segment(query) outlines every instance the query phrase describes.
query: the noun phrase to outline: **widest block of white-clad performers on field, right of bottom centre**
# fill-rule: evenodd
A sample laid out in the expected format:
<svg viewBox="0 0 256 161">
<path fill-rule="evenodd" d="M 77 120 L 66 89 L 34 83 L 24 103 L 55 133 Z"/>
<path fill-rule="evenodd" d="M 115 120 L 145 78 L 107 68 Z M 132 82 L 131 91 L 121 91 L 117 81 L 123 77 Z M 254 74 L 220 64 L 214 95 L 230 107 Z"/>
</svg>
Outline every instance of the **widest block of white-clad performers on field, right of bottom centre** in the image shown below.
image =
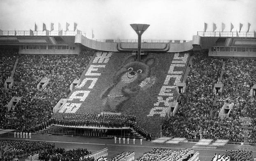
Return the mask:
<svg viewBox="0 0 256 161">
<path fill-rule="evenodd" d="M 193 155 L 194 151 L 188 149 L 172 151 L 166 148 L 153 148 L 135 161 L 188 161 Z"/>
</svg>

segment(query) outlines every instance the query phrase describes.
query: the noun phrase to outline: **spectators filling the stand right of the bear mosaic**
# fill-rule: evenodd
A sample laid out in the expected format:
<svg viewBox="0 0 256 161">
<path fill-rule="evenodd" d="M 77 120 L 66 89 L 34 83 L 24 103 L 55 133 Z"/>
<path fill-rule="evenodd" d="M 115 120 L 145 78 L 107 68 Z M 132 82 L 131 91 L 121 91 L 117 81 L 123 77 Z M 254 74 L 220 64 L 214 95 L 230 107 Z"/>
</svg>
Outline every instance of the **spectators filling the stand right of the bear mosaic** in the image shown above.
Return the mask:
<svg viewBox="0 0 256 161">
<path fill-rule="evenodd" d="M 223 63 L 225 67 L 222 69 Z M 223 78 L 220 80 L 221 71 Z M 165 136 L 229 139 L 242 142 L 240 131 L 242 117 L 252 118 L 249 142 L 256 142 L 255 97 L 249 96 L 256 84 L 256 61 L 254 59 L 216 59 L 207 53 L 195 55 L 188 78 L 186 92 L 179 97 L 179 110 L 175 117 L 163 125 Z M 224 89 L 214 95 L 214 84 L 221 81 Z M 230 117 L 221 119 L 218 114 L 223 104 L 234 103 Z"/>
</svg>

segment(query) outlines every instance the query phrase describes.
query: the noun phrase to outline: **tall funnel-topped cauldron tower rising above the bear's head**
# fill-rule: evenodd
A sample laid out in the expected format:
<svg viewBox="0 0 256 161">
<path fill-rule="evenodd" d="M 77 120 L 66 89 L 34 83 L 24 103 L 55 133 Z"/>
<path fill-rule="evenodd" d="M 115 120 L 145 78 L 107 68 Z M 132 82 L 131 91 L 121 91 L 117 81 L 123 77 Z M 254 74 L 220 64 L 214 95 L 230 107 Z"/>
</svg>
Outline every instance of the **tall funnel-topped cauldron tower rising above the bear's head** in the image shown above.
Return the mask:
<svg viewBox="0 0 256 161">
<path fill-rule="evenodd" d="M 130 26 L 134 29 L 134 31 L 138 35 L 138 61 L 140 61 L 140 52 L 141 52 L 141 36 L 146 31 L 146 29 L 149 27 L 147 24 L 130 24 Z"/>
</svg>

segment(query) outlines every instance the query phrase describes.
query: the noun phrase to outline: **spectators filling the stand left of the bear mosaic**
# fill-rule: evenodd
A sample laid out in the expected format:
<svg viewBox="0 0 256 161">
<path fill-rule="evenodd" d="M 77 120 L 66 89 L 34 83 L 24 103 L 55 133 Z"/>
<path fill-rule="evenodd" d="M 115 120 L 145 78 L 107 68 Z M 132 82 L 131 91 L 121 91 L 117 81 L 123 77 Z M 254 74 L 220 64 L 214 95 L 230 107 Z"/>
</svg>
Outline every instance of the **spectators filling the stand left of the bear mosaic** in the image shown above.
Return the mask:
<svg viewBox="0 0 256 161">
<path fill-rule="evenodd" d="M 92 55 L 92 50 L 84 50 L 79 55 L 13 56 L 12 59 L 19 59 L 14 86 L 11 89 L 0 87 L 0 128 L 35 132 L 45 127 L 53 107 L 60 98 L 67 97 L 70 84 L 79 78 Z M 11 75 L 9 70 L 5 75 Z M 38 90 L 37 84 L 45 77 L 50 79 L 49 85 Z M 6 105 L 13 96 L 21 100 L 8 111 Z"/>
</svg>

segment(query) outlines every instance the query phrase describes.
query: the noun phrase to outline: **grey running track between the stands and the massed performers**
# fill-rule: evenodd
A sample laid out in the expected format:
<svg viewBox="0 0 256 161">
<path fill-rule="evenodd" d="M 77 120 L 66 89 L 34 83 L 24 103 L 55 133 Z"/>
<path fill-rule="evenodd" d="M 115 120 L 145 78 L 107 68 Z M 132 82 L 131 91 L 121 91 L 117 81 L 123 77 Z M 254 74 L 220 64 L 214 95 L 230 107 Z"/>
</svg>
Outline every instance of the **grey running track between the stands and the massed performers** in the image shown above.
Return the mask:
<svg viewBox="0 0 256 161">
<path fill-rule="evenodd" d="M 113 156 L 121 152 L 134 151 L 135 158 L 142 156 L 143 153 L 150 151 L 153 147 L 165 147 L 173 150 L 180 148 L 189 148 L 193 147 L 195 143 L 182 143 L 182 145 L 172 145 L 172 144 L 156 144 L 151 143 L 150 141 L 143 141 L 140 145 L 140 141 L 136 140 L 135 145 L 133 145 L 133 140 L 130 139 L 130 144 L 121 144 L 117 140 L 117 144 L 114 143 L 114 139 L 100 139 L 100 138 L 86 138 L 86 137 L 67 137 L 67 136 L 49 136 L 49 135 L 32 135 L 32 139 L 23 139 L 23 138 L 14 138 L 13 136 L 0 136 L 0 140 L 26 140 L 26 141 L 47 141 L 54 143 L 56 147 L 65 148 L 66 150 L 72 150 L 75 148 L 86 148 L 91 152 L 96 152 L 98 150 L 108 148 L 107 159 L 110 159 Z M 217 149 L 193 149 L 195 152 L 199 152 L 200 161 L 211 161 L 214 154 L 224 154 L 226 150 L 237 150 L 239 149 L 238 145 L 226 145 L 225 147 L 217 147 Z M 251 147 L 254 157 L 256 157 L 256 147 Z"/>
</svg>

